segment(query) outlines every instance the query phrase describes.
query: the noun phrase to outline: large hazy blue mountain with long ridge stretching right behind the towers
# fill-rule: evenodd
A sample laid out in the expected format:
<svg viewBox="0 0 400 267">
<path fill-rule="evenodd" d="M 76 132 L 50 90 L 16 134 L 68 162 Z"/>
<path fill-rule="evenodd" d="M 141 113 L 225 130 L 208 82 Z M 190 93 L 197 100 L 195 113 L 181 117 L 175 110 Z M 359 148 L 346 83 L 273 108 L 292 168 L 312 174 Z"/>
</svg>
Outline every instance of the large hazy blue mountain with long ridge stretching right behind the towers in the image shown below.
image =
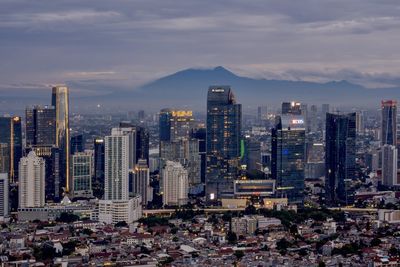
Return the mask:
<svg viewBox="0 0 400 267">
<path fill-rule="evenodd" d="M 331 103 L 343 106 L 378 106 L 381 99 L 400 98 L 399 88 L 367 89 L 347 81 L 327 83 L 252 79 L 224 67 L 186 69 L 150 82 L 132 92 L 142 101 L 151 99 L 164 106 L 204 108 L 210 85 L 230 85 L 244 107 L 279 105 L 282 101 Z M 160 103 L 161 102 L 161 103 Z"/>
</svg>

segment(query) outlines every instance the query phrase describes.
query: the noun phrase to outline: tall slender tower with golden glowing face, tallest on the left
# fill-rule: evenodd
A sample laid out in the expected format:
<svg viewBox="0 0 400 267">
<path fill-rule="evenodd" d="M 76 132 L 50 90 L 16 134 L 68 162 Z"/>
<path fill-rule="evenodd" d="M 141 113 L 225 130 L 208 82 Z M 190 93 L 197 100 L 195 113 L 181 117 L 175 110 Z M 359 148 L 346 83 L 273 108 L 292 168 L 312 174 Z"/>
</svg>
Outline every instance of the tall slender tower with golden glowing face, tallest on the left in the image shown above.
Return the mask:
<svg viewBox="0 0 400 267">
<path fill-rule="evenodd" d="M 52 88 L 52 105 L 56 111 L 56 147 L 60 149 L 61 185 L 69 193 L 70 181 L 70 136 L 69 136 L 69 93 L 66 86 Z"/>
</svg>

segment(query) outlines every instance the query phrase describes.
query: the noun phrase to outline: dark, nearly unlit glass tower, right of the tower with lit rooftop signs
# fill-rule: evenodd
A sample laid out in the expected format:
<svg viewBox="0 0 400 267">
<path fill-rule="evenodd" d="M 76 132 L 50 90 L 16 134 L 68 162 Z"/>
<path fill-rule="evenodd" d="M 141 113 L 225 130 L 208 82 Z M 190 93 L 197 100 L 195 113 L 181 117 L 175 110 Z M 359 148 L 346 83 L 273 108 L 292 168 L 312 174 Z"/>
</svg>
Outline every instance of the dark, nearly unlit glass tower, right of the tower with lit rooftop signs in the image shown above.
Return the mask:
<svg viewBox="0 0 400 267">
<path fill-rule="evenodd" d="M 355 175 L 356 114 L 326 114 L 325 193 L 329 205 L 348 203 L 346 180 Z"/>
</svg>

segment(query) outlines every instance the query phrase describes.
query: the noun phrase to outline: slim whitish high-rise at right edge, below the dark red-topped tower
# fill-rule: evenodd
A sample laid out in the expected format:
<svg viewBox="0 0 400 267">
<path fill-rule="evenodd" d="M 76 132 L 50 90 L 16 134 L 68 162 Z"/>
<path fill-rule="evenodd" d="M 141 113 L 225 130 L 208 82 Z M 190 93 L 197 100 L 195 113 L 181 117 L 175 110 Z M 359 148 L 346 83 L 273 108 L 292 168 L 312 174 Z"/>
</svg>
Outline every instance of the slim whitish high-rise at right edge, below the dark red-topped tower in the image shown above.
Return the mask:
<svg viewBox="0 0 400 267">
<path fill-rule="evenodd" d="M 382 183 L 386 186 L 397 185 L 397 148 L 393 145 L 382 147 Z"/>
</svg>

